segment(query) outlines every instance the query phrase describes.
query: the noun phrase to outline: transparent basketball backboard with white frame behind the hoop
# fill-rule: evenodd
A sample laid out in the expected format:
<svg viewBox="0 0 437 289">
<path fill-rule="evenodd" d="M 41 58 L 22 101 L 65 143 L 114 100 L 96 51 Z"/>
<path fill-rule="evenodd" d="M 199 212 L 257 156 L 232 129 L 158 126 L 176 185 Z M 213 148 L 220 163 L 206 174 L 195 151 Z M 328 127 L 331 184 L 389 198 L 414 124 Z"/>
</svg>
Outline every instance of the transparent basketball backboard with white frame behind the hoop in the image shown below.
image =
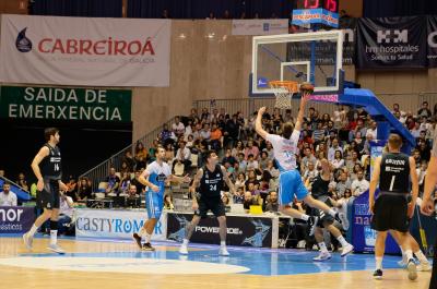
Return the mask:
<svg viewBox="0 0 437 289">
<path fill-rule="evenodd" d="M 249 94 L 273 94 L 270 81 L 310 82 L 315 94 L 339 92 L 342 53 L 341 31 L 256 36 Z"/>
</svg>

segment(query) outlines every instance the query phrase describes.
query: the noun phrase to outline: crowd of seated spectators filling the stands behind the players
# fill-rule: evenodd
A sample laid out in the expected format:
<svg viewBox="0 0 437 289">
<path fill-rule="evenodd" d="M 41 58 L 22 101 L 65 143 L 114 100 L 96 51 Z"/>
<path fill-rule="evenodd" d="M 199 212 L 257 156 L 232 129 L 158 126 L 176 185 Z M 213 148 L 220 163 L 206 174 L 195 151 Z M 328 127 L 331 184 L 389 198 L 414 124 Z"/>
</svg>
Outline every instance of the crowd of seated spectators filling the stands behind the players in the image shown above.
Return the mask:
<svg viewBox="0 0 437 289">
<path fill-rule="evenodd" d="M 430 111 L 424 101 L 416 113 L 412 113 L 402 111 L 394 104 L 392 113 L 416 139 L 411 155 L 417 164 L 422 193 L 430 158 L 437 106 Z M 223 108 L 191 109 L 189 116 L 176 117 L 172 125 L 164 124 L 150 147 L 138 142 L 134 149 L 127 150 L 120 167 L 110 168 L 107 178 L 102 180 L 105 186 L 99 188 L 99 192 L 105 196 L 141 195 L 145 188 L 138 178 L 147 164 L 155 160 L 158 145 L 165 147 L 166 160 L 173 173 L 178 176 L 193 173 L 204 165 L 203 154 L 208 149 L 215 149 L 236 188 L 235 195 L 229 195 L 228 188 L 223 188 L 223 202 L 228 206 L 243 204 L 245 209 L 260 205 L 264 212 L 277 212 L 280 172 L 274 162 L 272 145 L 255 132 L 255 118 L 256 112 L 244 116 L 239 111 L 229 115 Z M 287 121 L 294 121 L 291 110 L 283 113 L 279 109 L 268 110 L 262 117 L 262 124 L 270 133 L 281 133 L 282 124 Z M 330 116 L 310 107 L 303 123 L 296 155 L 297 169 L 309 191 L 321 169 L 320 161 L 328 159 L 332 167 L 330 197 L 339 210 L 345 210 L 351 197 L 359 196 L 369 188 L 369 143 L 377 140 L 377 122 L 362 108 L 338 106 Z M 20 173 L 16 183 L 28 188 L 23 173 Z M 67 185 L 69 190 L 66 195 L 74 202 L 92 197 L 91 180 L 86 178 L 76 182 L 70 177 Z M 172 202 L 172 196 L 166 197 L 167 208 L 174 207 Z M 297 200 L 291 205 L 306 209 L 305 204 Z"/>
</svg>

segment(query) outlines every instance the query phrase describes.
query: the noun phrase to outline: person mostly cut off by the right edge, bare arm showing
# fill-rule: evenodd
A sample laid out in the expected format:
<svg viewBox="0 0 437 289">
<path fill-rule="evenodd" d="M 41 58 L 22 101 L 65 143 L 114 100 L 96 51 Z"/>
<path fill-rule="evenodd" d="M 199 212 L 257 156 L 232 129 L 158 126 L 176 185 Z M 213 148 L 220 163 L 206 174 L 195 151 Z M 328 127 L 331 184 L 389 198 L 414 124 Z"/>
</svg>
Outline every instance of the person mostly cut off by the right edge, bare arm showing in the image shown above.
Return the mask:
<svg viewBox="0 0 437 289">
<path fill-rule="evenodd" d="M 430 152 L 430 160 L 425 176 L 425 191 L 421 212 L 430 216 L 435 212 L 434 200 L 432 194 L 437 183 L 437 132 L 434 134 L 433 150 Z M 429 289 L 437 288 L 437 239 L 434 242 L 433 274 L 430 276 Z"/>
</svg>

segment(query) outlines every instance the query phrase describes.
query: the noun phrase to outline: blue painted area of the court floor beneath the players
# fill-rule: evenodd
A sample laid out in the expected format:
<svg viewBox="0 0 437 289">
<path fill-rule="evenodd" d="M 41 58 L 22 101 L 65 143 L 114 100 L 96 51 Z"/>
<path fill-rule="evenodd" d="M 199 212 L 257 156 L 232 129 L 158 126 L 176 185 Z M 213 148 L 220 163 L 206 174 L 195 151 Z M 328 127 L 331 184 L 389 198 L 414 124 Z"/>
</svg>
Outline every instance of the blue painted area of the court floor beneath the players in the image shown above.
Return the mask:
<svg viewBox="0 0 437 289">
<path fill-rule="evenodd" d="M 90 240 L 91 241 L 91 240 Z M 95 241 L 95 240 L 93 240 Z M 111 242 L 105 240 L 104 242 Z M 120 242 L 115 240 L 114 242 Z M 122 241 L 129 242 L 129 241 Z M 186 265 L 197 263 L 210 263 L 211 265 L 228 265 L 244 267 L 238 274 L 277 276 L 277 275 L 297 275 L 297 274 L 315 274 L 327 272 L 347 272 L 347 270 L 367 270 L 375 268 L 375 258 L 373 254 L 350 254 L 341 257 L 340 253 L 333 253 L 332 258 L 326 262 L 314 262 L 312 257 L 317 256 L 316 251 L 288 250 L 288 249 L 253 249 L 241 246 L 228 246 L 231 256 L 218 256 L 217 245 L 190 244 L 190 251 L 187 256 L 178 253 L 178 244 L 173 242 L 154 242 L 156 251 L 140 252 L 132 250 L 126 252 L 101 252 L 101 253 L 67 253 L 64 255 L 56 255 L 52 253 L 25 253 L 20 257 L 59 257 L 59 258 L 115 258 L 123 260 L 144 260 L 150 265 L 165 266 L 166 262 L 179 263 L 185 262 Z M 399 268 L 397 262 L 400 256 L 385 256 L 383 268 Z M 188 263 L 187 263 L 188 262 Z M 99 266 L 107 266 L 102 263 Z"/>
</svg>

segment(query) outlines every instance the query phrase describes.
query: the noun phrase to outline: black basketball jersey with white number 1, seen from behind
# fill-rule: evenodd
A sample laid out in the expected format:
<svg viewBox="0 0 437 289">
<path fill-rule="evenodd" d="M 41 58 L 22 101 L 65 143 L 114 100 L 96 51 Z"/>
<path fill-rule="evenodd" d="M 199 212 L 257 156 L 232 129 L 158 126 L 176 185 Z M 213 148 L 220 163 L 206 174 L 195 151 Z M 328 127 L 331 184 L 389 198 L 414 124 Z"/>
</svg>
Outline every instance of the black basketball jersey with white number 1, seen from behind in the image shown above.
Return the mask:
<svg viewBox="0 0 437 289">
<path fill-rule="evenodd" d="M 410 160 L 402 153 L 386 153 L 381 159 L 379 189 L 383 192 L 410 192 Z"/>
</svg>

